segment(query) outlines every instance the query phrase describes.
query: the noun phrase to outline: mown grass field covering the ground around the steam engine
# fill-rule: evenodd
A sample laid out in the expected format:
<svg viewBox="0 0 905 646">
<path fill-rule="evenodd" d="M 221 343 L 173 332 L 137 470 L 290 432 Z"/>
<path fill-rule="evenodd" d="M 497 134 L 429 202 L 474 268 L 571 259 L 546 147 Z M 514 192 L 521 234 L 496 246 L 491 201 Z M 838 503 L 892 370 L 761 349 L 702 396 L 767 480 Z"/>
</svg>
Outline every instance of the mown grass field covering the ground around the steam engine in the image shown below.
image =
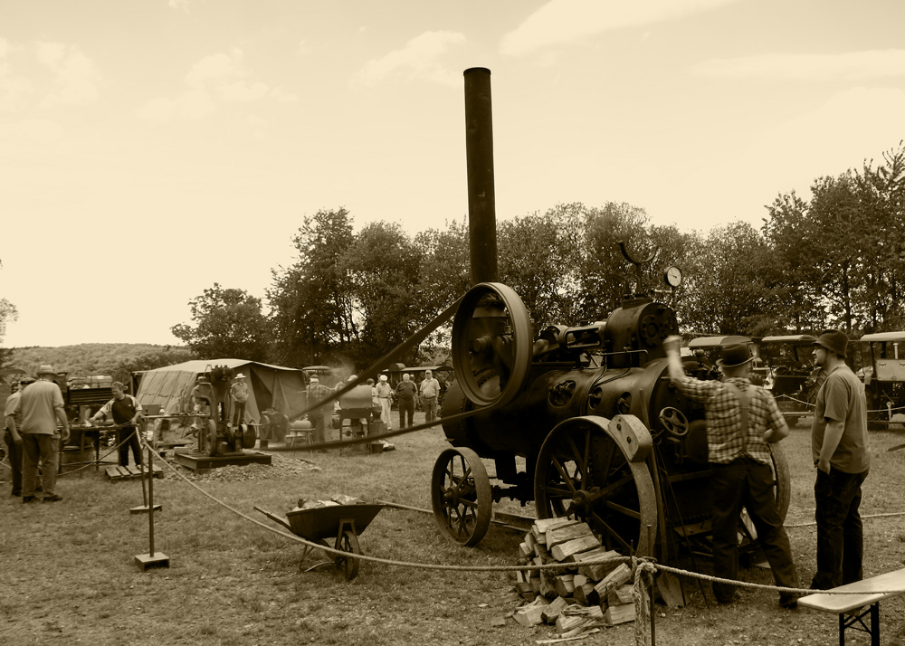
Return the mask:
<svg viewBox="0 0 905 646">
<path fill-rule="evenodd" d="M 419 413 L 420 417 L 420 413 Z M 417 422 L 418 420 L 416 420 Z M 792 472 L 786 523 L 813 521 L 814 469 L 808 419 L 784 441 Z M 242 481 L 197 482 L 271 527 L 255 505 L 284 514 L 300 498 L 337 494 L 430 508 L 433 462 L 447 446 L 439 429 L 397 437 L 396 451 L 378 455 L 335 452 L 310 458 L 319 470 Z M 872 432 L 871 475 L 862 514 L 905 512 L 905 430 Z M 281 453 L 287 460 L 290 453 Z M 7 471 L 3 475 L 8 479 Z M 0 644 L 527 644 L 555 637 L 549 627 L 521 627 L 491 619 L 510 613 L 503 601 L 513 577 L 499 572 L 439 571 L 363 562 L 347 582 L 333 570 L 305 573 L 302 546 L 277 536 L 205 498 L 185 481 L 155 480 L 157 551 L 168 568 L 141 572 L 134 556 L 148 552 L 148 518 L 130 515 L 142 504 L 138 481 L 111 482 L 94 470 L 60 480 L 64 500 L 23 505 L 3 483 L 0 498 Z M 510 513 L 530 514 L 504 501 Z M 868 518 L 865 575 L 905 565 L 905 524 L 899 515 Z M 790 527 L 803 583 L 814 573 L 814 527 Z M 384 509 L 360 537 L 368 556 L 448 565 L 513 565 L 521 533 L 491 526 L 472 549 L 440 536 L 433 516 Z M 320 560 L 319 552 L 305 565 Z M 768 584 L 769 573 L 743 570 L 744 580 Z M 697 586 L 691 586 L 697 590 Z M 658 644 L 832 644 L 833 615 L 781 610 L 775 593 L 744 591 L 742 601 L 716 606 L 707 588 L 685 608 L 658 607 Z M 905 597 L 881 604 L 883 644 L 905 643 Z M 631 643 L 632 624 L 582 643 Z M 852 644 L 869 643 L 854 633 Z"/>
</svg>

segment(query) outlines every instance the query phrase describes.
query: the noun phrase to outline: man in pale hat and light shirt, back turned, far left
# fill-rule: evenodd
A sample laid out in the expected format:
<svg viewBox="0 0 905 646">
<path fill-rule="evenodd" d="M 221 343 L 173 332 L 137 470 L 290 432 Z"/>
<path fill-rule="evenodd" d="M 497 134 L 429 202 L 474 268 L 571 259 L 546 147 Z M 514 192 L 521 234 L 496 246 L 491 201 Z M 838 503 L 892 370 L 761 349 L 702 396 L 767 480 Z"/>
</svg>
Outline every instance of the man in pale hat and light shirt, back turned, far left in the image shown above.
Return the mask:
<svg viewBox="0 0 905 646">
<path fill-rule="evenodd" d="M 43 501 L 62 500 L 56 493 L 56 474 L 60 441 L 69 440 L 69 420 L 63 410 L 60 386 L 53 381 L 56 375 L 53 366 L 38 368 L 38 381 L 25 388 L 16 404 L 22 411 L 22 501 L 26 503 L 35 501 L 39 462 L 43 465 Z M 62 426 L 62 433 L 57 432 L 57 423 Z"/>
</svg>

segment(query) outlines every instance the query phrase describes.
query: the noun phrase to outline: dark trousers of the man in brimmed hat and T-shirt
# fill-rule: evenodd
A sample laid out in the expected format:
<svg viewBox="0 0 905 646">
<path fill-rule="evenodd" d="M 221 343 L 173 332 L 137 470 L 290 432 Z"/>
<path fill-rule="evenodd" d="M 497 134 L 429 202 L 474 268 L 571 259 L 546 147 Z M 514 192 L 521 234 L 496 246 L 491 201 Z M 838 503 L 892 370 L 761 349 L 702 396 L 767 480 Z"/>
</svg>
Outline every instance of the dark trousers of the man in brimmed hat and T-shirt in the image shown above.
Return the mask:
<svg viewBox="0 0 905 646">
<path fill-rule="evenodd" d="M 864 530 L 861 514 L 863 473 L 846 473 L 830 467 L 829 473 L 817 470 L 814 501 L 817 508 L 817 573 L 811 581 L 814 590 L 829 590 L 863 578 Z"/>
</svg>

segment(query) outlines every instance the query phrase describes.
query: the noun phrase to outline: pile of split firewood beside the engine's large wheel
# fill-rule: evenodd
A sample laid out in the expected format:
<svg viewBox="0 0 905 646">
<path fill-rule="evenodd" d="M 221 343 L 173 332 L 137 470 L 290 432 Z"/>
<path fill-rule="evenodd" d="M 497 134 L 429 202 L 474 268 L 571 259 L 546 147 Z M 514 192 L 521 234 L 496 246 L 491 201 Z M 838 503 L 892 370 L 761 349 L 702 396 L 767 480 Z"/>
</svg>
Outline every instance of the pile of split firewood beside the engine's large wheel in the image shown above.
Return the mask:
<svg viewBox="0 0 905 646">
<path fill-rule="evenodd" d="M 632 568 L 601 546 L 586 523 L 539 519 L 519 549 L 519 565 L 563 567 L 516 572 L 519 595 L 528 602 L 513 614 L 517 622 L 555 623 L 557 633 L 571 637 L 634 621 Z"/>
</svg>

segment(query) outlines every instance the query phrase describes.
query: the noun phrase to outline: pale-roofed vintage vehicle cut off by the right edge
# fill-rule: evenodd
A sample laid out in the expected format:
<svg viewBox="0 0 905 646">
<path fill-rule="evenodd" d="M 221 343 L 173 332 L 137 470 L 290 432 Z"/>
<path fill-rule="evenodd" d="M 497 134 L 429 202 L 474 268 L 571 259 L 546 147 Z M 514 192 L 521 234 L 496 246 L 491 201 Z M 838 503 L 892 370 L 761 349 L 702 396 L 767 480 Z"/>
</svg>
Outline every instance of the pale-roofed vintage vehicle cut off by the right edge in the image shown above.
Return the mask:
<svg viewBox="0 0 905 646">
<path fill-rule="evenodd" d="M 905 413 L 905 332 L 865 334 L 860 343 L 868 421 L 891 424 Z"/>
</svg>

